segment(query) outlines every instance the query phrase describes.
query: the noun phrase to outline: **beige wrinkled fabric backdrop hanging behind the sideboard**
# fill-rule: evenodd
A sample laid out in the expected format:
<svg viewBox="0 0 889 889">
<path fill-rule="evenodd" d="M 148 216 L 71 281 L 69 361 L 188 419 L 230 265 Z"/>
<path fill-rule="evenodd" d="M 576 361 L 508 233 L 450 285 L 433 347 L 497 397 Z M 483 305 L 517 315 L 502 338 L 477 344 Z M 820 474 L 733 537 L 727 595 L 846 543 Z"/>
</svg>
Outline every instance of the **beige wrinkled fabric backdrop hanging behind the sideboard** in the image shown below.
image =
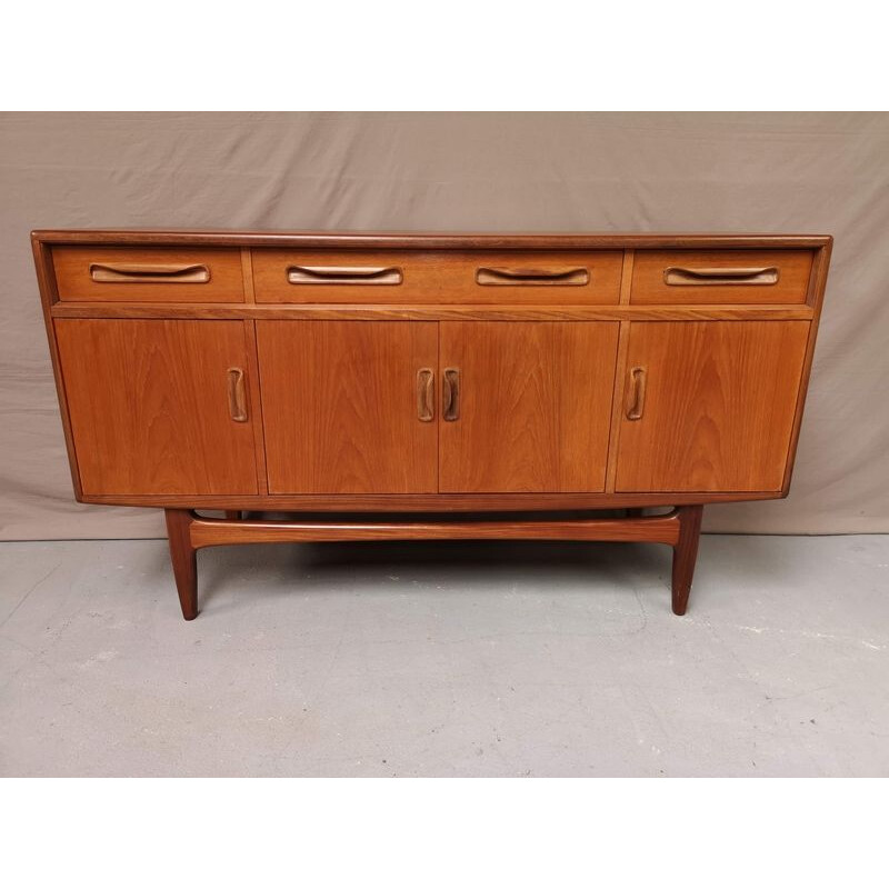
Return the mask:
<svg viewBox="0 0 889 889">
<path fill-rule="evenodd" d="M 221 227 L 836 237 L 793 487 L 708 530 L 889 531 L 889 114 L 0 116 L 0 538 L 162 537 L 73 502 L 28 233 Z"/>
</svg>

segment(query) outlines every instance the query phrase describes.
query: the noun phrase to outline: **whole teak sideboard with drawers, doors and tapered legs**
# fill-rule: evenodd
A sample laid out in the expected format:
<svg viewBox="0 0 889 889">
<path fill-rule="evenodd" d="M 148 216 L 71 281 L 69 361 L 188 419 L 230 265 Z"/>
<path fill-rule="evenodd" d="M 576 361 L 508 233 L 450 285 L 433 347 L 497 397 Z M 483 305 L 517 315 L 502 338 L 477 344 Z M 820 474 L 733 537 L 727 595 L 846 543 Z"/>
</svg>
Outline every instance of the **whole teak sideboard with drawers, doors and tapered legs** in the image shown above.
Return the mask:
<svg viewBox="0 0 889 889">
<path fill-rule="evenodd" d="M 201 547 L 404 539 L 667 543 L 685 613 L 703 506 L 788 492 L 831 249 L 31 238 L 77 499 L 166 510 L 187 620 Z"/>
</svg>

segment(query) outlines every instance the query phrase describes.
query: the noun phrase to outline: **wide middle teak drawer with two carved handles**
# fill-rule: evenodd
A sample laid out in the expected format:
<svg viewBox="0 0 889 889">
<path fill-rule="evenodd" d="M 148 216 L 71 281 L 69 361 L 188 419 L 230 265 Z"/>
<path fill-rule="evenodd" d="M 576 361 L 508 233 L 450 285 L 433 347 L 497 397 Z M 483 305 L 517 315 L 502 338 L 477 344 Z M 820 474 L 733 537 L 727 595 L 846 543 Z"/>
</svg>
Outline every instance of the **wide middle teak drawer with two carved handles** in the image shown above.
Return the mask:
<svg viewBox="0 0 889 889">
<path fill-rule="evenodd" d="M 621 250 L 253 250 L 257 302 L 617 303 Z"/>
</svg>

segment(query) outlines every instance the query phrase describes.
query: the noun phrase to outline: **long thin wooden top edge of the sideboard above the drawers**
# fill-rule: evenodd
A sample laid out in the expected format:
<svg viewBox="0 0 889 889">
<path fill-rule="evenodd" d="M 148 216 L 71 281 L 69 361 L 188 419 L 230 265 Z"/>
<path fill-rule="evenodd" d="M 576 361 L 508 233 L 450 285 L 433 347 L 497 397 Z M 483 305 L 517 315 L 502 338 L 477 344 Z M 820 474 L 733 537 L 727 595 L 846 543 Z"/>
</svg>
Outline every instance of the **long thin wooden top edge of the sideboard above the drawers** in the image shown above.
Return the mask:
<svg viewBox="0 0 889 889">
<path fill-rule="evenodd" d="M 616 248 L 809 248 L 827 247 L 829 234 L 740 232 L 430 232 L 246 231 L 238 229 L 40 229 L 36 243 L 208 247 L 400 248 L 417 250 Z"/>
</svg>

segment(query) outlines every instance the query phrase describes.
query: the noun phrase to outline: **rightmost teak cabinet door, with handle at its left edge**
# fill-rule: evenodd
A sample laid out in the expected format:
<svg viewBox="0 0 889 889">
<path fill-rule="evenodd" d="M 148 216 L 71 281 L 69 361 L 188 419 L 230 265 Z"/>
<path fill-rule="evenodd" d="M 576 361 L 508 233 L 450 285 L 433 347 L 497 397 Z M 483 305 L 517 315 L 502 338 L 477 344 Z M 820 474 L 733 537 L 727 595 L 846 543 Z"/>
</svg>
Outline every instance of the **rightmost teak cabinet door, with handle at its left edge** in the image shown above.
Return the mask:
<svg viewBox="0 0 889 889">
<path fill-rule="evenodd" d="M 808 336 L 808 321 L 635 321 L 617 490 L 779 491 Z"/>
</svg>

